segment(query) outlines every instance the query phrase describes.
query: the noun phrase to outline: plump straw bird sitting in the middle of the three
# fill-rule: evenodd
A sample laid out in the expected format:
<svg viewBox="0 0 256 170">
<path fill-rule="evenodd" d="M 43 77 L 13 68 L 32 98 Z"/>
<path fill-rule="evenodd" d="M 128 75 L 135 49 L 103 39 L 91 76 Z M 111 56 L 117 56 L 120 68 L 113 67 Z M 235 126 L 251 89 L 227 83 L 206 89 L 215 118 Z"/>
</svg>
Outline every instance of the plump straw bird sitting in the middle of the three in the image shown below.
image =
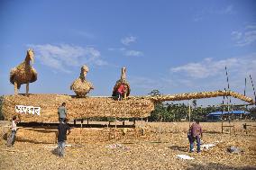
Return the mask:
<svg viewBox="0 0 256 170">
<path fill-rule="evenodd" d="M 94 85 L 86 79 L 88 71 L 89 68 L 86 65 L 81 67 L 80 76 L 70 86 L 70 90 L 73 90 L 78 97 L 85 97 L 90 90 L 94 89 Z"/>
</svg>

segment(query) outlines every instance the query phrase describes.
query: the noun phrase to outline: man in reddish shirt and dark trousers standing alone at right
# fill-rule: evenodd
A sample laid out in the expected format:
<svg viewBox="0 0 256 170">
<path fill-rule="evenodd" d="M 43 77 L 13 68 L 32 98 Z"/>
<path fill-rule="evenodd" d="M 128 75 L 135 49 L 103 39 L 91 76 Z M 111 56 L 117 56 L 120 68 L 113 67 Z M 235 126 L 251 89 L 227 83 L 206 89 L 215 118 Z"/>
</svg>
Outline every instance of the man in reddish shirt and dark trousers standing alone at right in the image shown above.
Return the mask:
<svg viewBox="0 0 256 170">
<path fill-rule="evenodd" d="M 200 139 L 203 138 L 203 132 L 202 132 L 202 127 L 199 124 L 198 120 L 196 120 L 196 122 L 194 122 L 189 128 L 187 138 L 189 140 L 189 152 L 194 151 L 194 142 L 195 140 L 197 140 L 197 153 L 199 153 L 201 151 Z"/>
</svg>

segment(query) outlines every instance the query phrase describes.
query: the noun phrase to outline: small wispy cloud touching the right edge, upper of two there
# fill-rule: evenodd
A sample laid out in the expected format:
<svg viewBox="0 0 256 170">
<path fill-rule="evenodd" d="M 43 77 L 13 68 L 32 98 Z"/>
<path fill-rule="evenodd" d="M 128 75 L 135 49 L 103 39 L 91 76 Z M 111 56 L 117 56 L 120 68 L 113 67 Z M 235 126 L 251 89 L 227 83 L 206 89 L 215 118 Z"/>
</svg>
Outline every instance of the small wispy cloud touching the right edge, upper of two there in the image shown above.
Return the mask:
<svg viewBox="0 0 256 170">
<path fill-rule="evenodd" d="M 236 46 L 251 45 L 256 41 L 256 25 L 247 25 L 243 31 L 233 31 L 231 36 Z"/>
</svg>

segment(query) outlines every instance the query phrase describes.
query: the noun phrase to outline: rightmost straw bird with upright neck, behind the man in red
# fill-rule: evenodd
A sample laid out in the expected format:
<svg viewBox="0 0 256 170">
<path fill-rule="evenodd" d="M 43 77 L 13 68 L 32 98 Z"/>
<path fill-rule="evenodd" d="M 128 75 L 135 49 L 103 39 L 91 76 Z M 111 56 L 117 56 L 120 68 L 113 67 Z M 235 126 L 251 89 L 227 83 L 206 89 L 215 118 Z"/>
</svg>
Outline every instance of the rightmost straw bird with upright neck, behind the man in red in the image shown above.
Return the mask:
<svg viewBox="0 0 256 170">
<path fill-rule="evenodd" d="M 121 70 L 121 78 L 119 80 L 116 81 L 115 85 L 114 85 L 114 89 L 113 89 L 113 94 L 112 96 L 116 96 L 117 93 L 117 89 L 120 85 L 125 85 L 126 86 L 126 92 L 123 94 L 123 98 L 127 97 L 130 92 L 131 92 L 131 87 L 128 83 L 128 81 L 126 80 L 126 67 L 122 67 Z"/>
</svg>

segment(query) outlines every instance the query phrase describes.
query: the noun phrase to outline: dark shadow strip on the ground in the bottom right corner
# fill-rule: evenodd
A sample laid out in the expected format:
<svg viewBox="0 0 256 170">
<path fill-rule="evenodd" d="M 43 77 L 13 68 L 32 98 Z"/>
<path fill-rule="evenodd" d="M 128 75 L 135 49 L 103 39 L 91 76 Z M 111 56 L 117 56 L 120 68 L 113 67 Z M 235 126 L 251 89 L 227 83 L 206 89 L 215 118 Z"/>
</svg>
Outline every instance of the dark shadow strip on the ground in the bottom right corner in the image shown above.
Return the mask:
<svg viewBox="0 0 256 170">
<path fill-rule="evenodd" d="M 209 163 L 206 165 L 198 165 L 198 164 L 190 164 L 192 167 L 188 167 L 187 170 L 197 170 L 197 169 L 204 169 L 204 170 L 256 170 L 256 166 L 243 166 L 243 167 L 233 167 L 233 166 L 226 166 L 223 164 L 218 163 Z"/>
</svg>

